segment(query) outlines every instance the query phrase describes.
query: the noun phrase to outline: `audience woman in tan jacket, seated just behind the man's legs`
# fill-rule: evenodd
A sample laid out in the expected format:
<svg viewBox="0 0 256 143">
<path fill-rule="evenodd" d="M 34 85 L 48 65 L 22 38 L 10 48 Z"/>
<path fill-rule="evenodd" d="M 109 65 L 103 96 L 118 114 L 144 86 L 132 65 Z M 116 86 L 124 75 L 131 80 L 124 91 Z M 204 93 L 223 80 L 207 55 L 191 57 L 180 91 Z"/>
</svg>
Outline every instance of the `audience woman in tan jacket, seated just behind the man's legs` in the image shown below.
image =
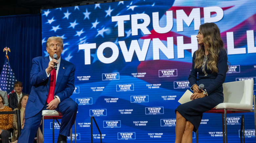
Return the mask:
<svg viewBox="0 0 256 143">
<path fill-rule="evenodd" d="M 25 122 L 25 109 L 26 109 L 26 105 L 27 105 L 27 101 L 28 101 L 29 95 L 25 94 L 20 98 L 20 101 L 18 103 L 18 108 L 15 108 L 13 111 L 15 110 L 20 110 L 20 122 L 21 122 L 21 129 L 23 129 L 24 127 L 24 122 Z M 11 138 L 12 143 L 17 143 L 18 142 L 18 125 L 17 125 L 17 117 L 14 115 L 13 116 L 13 125 L 12 125 L 14 131 L 13 131 L 13 136 Z M 39 134 L 41 133 L 41 130 L 39 128 Z M 39 135 L 39 137 L 41 137 Z M 40 139 L 39 139 L 40 140 Z"/>
</svg>

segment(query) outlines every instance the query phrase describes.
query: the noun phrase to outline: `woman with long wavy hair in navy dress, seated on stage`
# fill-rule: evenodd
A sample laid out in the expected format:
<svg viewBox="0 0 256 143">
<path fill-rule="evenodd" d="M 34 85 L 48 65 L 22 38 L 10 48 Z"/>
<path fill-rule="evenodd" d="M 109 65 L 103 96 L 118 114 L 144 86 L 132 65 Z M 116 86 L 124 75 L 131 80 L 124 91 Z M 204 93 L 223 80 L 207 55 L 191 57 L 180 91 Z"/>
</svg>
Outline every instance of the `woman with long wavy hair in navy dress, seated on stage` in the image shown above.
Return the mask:
<svg viewBox="0 0 256 143">
<path fill-rule="evenodd" d="M 197 131 L 203 112 L 224 100 L 222 84 L 228 65 L 220 29 L 214 23 L 200 25 L 197 41 L 200 48 L 193 54 L 188 78 L 194 93 L 190 102 L 179 105 L 175 110 L 175 143 L 192 143 L 192 131 Z M 204 85 L 203 90 L 198 89 L 200 84 Z"/>
</svg>

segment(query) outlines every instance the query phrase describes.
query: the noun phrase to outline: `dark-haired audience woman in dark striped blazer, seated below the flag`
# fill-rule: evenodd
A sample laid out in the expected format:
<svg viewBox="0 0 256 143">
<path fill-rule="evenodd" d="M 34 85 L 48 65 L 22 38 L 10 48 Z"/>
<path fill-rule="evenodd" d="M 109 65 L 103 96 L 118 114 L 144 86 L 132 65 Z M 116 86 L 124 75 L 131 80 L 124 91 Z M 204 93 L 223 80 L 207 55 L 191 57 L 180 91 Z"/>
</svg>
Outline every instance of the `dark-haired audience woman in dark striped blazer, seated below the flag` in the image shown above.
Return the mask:
<svg viewBox="0 0 256 143">
<path fill-rule="evenodd" d="M 15 92 L 9 94 L 9 107 L 13 110 L 17 108 L 17 105 L 22 97 L 22 95 L 25 95 L 25 93 L 22 92 L 23 86 L 20 81 L 16 81 L 14 83 L 14 90 Z"/>
</svg>

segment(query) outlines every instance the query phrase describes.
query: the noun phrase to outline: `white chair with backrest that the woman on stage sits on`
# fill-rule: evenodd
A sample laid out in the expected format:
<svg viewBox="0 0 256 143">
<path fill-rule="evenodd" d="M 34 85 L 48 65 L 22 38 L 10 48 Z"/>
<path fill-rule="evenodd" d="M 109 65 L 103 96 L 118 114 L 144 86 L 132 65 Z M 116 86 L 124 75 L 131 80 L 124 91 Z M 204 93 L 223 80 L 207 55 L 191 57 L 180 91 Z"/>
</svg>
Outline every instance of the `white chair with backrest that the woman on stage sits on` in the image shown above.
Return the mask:
<svg viewBox="0 0 256 143">
<path fill-rule="evenodd" d="M 227 82 L 223 84 L 224 102 L 205 113 L 222 114 L 223 143 L 227 143 L 228 113 L 254 112 L 254 127 L 256 129 L 255 95 L 253 95 L 253 80 Z M 252 106 L 254 104 L 254 110 Z M 198 143 L 198 132 L 197 132 Z"/>
</svg>

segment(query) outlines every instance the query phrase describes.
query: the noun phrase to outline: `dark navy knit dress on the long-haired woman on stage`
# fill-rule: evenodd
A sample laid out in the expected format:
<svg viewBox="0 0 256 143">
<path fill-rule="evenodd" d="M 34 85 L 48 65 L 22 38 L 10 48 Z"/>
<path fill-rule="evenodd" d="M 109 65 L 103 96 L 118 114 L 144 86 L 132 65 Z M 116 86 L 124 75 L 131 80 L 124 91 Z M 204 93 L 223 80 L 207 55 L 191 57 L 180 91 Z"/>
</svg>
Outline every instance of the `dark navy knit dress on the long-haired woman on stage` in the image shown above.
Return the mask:
<svg viewBox="0 0 256 143">
<path fill-rule="evenodd" d="M 226 77 L 227 53 L 225 49 L 220 48 L 219 61 L 217 64 L 218 73 L 212 73 L 207 69 L 207 57 L 205 56 L 202 68 L 194 69 L 195 58 L 196 52 L 193 54 L 192 69 L 188 78 L 191 90 L 193 85 L 203 84 L 203 90 L 207 92 L 208 96 L 181 104 L 175 109 L 175 113 L 178 111 L 182 117 L 194 125 L 194 132 L 197 131 L 201 123 L 203 112 L 211 110 L 224 101 L 222 84 Z"/>
</svg>

